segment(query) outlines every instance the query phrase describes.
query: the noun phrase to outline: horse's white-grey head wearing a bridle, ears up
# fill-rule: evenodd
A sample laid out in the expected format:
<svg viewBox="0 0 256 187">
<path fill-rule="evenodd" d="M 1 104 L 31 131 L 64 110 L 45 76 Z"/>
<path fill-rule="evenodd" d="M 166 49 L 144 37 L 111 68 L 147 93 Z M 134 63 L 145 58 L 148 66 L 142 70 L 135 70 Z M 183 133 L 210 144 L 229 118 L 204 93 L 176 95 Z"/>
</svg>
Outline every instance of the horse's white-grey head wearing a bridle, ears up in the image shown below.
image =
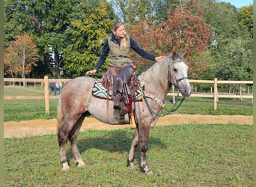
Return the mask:
<svg viewBox="0 0 256 187">
<path fill-rule="evenodd" d="M 186 63 L 187 55 L 188 52 L 186 52 L 185 55 L 173 52 L 168 62 L 169 82 L 171 85 L 174 85 L 183 96 L 190 96 L 192 93 L 192 88 L 187 77 L 189 69 Z"/>
</svg>

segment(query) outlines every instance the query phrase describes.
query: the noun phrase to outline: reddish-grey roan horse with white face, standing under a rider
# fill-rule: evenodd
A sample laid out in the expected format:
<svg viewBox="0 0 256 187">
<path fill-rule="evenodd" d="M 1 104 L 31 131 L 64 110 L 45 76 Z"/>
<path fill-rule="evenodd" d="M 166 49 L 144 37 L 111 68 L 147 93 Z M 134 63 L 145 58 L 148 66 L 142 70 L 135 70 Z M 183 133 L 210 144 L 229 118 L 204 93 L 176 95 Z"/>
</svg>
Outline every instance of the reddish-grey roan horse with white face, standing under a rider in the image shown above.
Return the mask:
<svg viewBox="0 0 256 187">
<path fill-rule="evenodd" d="M 164 102 L 171 85 L 174 85 L 183 95 L 190 96 L 192 88 L 187 78 L 188 66 L 186 57 L 188 52 L 181 55 L 172 52 L 162 61 L 154 63 L 150 68 L 141 73 L 141 80 L 144 82 L 144 92 L 156 96 Z M 76 140 L 79 129 L 85 117 L 93 115 L 103 123 L 119 124 L 114 117 L 113 102 L 92 96 L 92 88 L 96 79 L 84 76 L 71 79 L 61 90 L 58 100 L 58 144 L 60 150 L 60 162 L 62 171 L 69 171 L 65 151 L 67 139 L 73 152 L 76 165 L 85 167 L 79 153 Z M 162 107 L 154 99 L 147 99 L 148 107 L 144 107 L 141 101 L 133 103 L 136 128 L 132 138 L 132 145 L 127 157 L 127 167 L 135 170 L 134 153 L 136 147 L 140 147 L 141 168 L 147 175 L 153 174 L 147 165 L 146 151 L 147 139 L 150 132 L 150 125 L 156 120 L 156 114 L 162 112 Z M 153 112 L 152 112 L 153 111 Z"/>
</svg>

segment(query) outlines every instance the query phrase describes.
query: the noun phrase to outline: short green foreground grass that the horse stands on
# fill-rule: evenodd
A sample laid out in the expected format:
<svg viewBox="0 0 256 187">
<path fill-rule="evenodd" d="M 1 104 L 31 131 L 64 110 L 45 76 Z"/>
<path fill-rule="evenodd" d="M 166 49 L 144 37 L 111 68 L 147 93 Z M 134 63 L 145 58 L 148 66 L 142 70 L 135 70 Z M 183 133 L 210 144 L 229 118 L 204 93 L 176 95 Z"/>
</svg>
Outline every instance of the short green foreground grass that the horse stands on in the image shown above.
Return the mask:
<svg viewBox="0 0 256 187">
<path fill-rule="evenodd" d="M 252 186 L 252 126 L 204 124 L 150 130 L 153 176 L 126 166 L 132 130 L 80 132 L 86 168 L 61 172 L 56 135 L 4 139 L 4 186 Z M 139 165 L 139 152 L 135 152 Z"/>
</svg>

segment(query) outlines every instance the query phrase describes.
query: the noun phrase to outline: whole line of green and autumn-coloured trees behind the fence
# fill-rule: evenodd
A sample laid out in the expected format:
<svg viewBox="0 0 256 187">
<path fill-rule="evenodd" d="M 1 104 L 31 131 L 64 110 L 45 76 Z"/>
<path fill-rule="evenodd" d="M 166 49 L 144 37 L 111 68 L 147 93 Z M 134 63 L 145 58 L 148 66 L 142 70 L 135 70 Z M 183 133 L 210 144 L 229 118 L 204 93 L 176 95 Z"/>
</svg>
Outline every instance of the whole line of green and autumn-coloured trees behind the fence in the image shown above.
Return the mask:
<svg viewBox="0 0 256 187">
<path fill-rule="evenodd" d="M 215 0 L 5 0 L 4 77 L 85 76 L 121 20 L 155 55 L 189 49 L 192 79 L 252 80 L 252 9 Z M 139 73 L 154 63 L 131 58 Z M 106 69 L 107 61 L 94 77 Z"/>
</svg>

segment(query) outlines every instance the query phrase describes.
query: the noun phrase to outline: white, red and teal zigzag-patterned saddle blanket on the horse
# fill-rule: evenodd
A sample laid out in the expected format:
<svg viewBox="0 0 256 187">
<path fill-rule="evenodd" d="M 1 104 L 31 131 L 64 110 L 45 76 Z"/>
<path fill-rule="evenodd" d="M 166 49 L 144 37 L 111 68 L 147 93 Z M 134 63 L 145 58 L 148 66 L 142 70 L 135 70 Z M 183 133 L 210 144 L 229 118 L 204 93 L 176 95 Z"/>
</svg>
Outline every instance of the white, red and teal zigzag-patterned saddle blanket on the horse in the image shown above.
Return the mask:
<svg viewBox="0 0 256 187">
<path fill-rule="evenodd" d="M 138 78 L 139 79 L 139 78 Z M 109 93 L 109 89 L 105 88 L 102 84 L 103 79 L 96 79 L 95 83 L 94 83 L 94 87 L 92 88 L 92 94 L 93 96 L 96 96 L 98 98 L 101 99 L 109 99 L 112 100 L 112 93 Z M 131 80 L 131 82 L 133 82 L 133 80 Z M 138 84 L 140 84 L 141 88 L 143 88 L 143 82 L 141 79 L 138 80 L 137 82 Z M 131 90 L 132 88 L 129 87 L 129 91 L 130 94 L 132 95 L 133 90 Z M 135 99 L 136 100 L 141 100 L 142 99 L 142 95 L 141 95 L 141 91 L 138 89 L 138 86 L 134 87 L 135 91 Z"/>
</svg>

